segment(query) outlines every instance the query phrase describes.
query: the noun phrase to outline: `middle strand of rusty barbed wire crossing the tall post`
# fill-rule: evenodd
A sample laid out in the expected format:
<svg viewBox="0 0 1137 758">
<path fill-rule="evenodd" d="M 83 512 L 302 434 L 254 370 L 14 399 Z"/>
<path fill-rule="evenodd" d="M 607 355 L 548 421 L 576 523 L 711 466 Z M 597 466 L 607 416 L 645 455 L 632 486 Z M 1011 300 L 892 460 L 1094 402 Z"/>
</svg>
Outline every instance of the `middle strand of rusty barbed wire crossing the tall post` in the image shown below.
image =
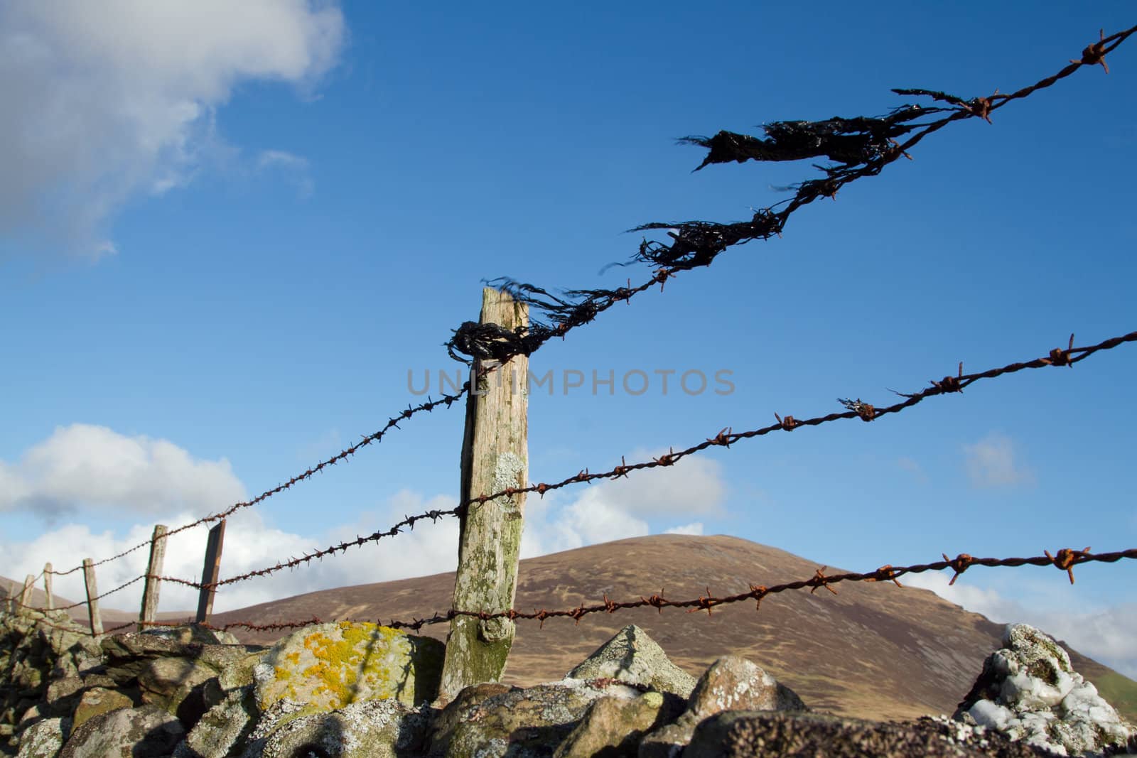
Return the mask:
<svg viewBox="0 0 1137 758">
<path fill-rule="evenodd" d="M 540 482 L 538 484 L 531 484 L 525 488 L 506 488 L 505 490 L 501 490 L 499 492 L 493 492 L 491 494 L 478 495 L 471 498 L 470 500 L 466 500 L 465 502 L 458 503 L 454 508 L 447 510 L 433 509 L 422 514 L 417 514 L 415 516 L 406 516 L 404 517 L 402 520 L 395 524 L 388 530 L 376 531 L 366 536 L 356 536 L 355 540 L 340 542 L 338 544 L 332 544 L 321 550 L 314 550 L 310 553 L 304 553 L 299 558 L 292 557 L 289 558 L 288 560 L 279 561 L 274 566 L 267 566 L 265 568 L 246 572 L 244 574 L 230 576 L 227 578 L 224 578 L 222 581 L 211 584 L 202 584 L 200 582 L 194 582 L 192 580 L 183 580 L 169 576 L 159 576 L 157 578 L 167 582 L 175 582 L 177 584 L 183 584 L 197 589 L 206 589 L 206 588 L 216 589 L 219 586 L 224 586 L 226 584 L 243 582 L 246 580 L 257 576 L 267 576 L 269 574 L 274 574 L 285 568 L 294 568 L 297 566 L 300 566 L 301 564 L 308 564 L 312 560 L 323 559 L 324 557 L 334 555 L 335 552 L 347 552 L 348 548 L 360 547 L 367 542 L 377 542 L 379 540 L 387 536 L 395 536 L 396 534 L 399 534 L 402 531 L 402 527 L 410 527 L 413 530 L 416 522 L 426 518 L 431 519 L 431 522 L 434 523 L 443 516 L 460 517 L 465 511 L 465 509 L 474 503 L 481 505 L 490 500 L 495 500 L 497 498 L 513 497 L 516 494 L 528 493 L 528 492 L 537 492 L 538 494 L 543 497 L 545 493 L 550 490 L 558 490 L 561 488 L 565 488 L 572 484 L 592 482 L 595 480 L 601 480 L 601 478 L 614 480 L 614 478 L 620 478 L 622 476 L 626 476 L 630 472 L 633 470 L 657 468 L 661 466 L 673 466 L 682 458 L 699 452 L 702 450 L 706 450 L 712 447 L 729 448 L 731 444 L 740 440 L 762 436 L 778 430 L 790 432 L 799 426 L 818 426 L 820 424 L 833 422 L 839 418 L 860 418 L 862 420 L 870 422 L 887 414 L 899 413 L 905 408 L 910 408 L 916 405 L 918 402 L 924 400 L 926 398 L 930 398 L 932 395 L 947 394 L 951 392 L 963 392 L 964 388 L 970 386 L 974 382 L 978 382 L 984 378 L 994 378 L 996 376 L 1002 376 L 1004 374 L 1012 374 L 1015 372 L 1024 370 L 1027 368 L 1041 368 L 1045 366 L 1072 366 L 1078 361 L 1085 360 L 1095 352 L 1098 352 L 1101 350 L 1110 350 L 1120 344 L 1124 344 L 1126 342 L 1135 342 L 1135 341 L 1137 341 L 1137 332 L 1130 332 L 1129 334 L 1122 334 L 1120 336 L 1113 336 L 1107 340 L 1103 340 L 1097 344 L 1088 345 L 1085 348 L 1076 348 L 1073 347 L 1073 334 L 1071 334 L 1067 348 L 1054 348 L 1047 353 L 1045 358 L 1035 358 L 1034 360 L 1013 363 L 1006 366 L 1002 366 L 999 368 L 990 368 L 986 372 L 980 372 L 977 374 L 964 374 L 963 363 L 961 361 L 955 376 L 948 375 L 938 381 L 933 380 L 930 382 L 929 388 L 920 392 L 903 393 L 903 392 L 896 392 L 895 390 L 890 390 L 895 394 L 905 398 L 904 401 L 895 403 L 893 406 L 877 408 L 870 403 L 863 402 L 860 398 L 856 400 L 849 400 L 847 398 L 845 399 L 838 398 L 837 399 L 838 402 L 840 402 L 848 409 L 846 413 L 828 414 L 825 416 L 818 416 L 814 418 L 805 418 L 805 419 L 797 419 L 790 415 L 782 417 L 781 415 L 775 413 L 774 418 L 778 419 L 778 423 L 764 426 L 762 428 L 752 430 L 748 432 L 732 432 L 728 427 L 721 430 L 714 436 L 707 438 L 703 442 L 694 444 L 683 450 L 677 451 L 674 450 L 674 448 L 669 448 L 667 453 L 659 456 L 658 458 L 653 458 L 650 460 L 629 464 L 625 461 L 624 457 L 621 456 L 620 465 L 606 472 L 599 472 L 592 474 L 589 473 L 589 470 L 586 468 L 573 476 L 566 477 L 553 484 Z"/>
</svg>

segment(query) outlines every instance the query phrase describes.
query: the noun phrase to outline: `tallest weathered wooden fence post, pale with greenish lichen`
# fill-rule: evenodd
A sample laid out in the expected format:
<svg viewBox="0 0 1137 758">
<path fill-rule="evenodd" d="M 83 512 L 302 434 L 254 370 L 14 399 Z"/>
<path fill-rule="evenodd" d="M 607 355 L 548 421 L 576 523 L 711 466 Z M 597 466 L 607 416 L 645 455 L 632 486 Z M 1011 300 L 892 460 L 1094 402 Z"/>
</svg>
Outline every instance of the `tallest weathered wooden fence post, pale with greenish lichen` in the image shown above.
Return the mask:
<svg viewBox="0 0 1137 758">
<path fill-rule="evenodd" d="M 529 307 L 492 288 L 482 290 L 481 323 L 508 330 L 529 326 Z M 479 369 L 496 361 L 475 360 L 466 398 L 462 443 L 462 501 L 507 488 L 522 488 L 529 476 L 526 356 L 514 356 L 481 378 Z M 497 613 L 513 607 L 525 495 L 471 503 L 462 517 L 454 608 Z M 455 616 L 446 641 L 440 693 L 451 699 L 463 688 L 497 682 L 505 670 L 515 626 L 504 617 L 480 620 Z"/>
</svg>

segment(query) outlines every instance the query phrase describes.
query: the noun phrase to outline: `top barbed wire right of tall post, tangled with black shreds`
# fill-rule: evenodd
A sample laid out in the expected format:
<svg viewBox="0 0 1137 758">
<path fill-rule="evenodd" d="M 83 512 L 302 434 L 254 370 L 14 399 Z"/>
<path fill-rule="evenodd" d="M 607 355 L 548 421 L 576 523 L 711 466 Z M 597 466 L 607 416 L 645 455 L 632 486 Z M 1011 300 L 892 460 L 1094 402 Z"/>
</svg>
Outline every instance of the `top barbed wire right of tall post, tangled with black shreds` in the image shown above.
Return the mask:
<svg viewBox="0 0 1137 758">
<path fill-rule="evenodd" d="M 652 278 L 638 286 L 631 286 L 629 280 L 628 286 L 615 290 L 567 290 L 559 297 L 546 289 L 508 277 L 490 280 L 488 284 L 500 286 L 514 299 L 543 311 L 549 319 L 548 323 L 533 320 L 530 327 L 511 332 L 493 325 L 465 322 L 454 330 L 450 340 L 446 342 L 447 350 L 451 358 L 467 364 L 473 359 L 505 363 L 515 355 L 532 355 L 548 340 L 555 336 L 564 338 L 570 330 L 592 322 L 615 303 L 630 302 L 632 297 L 655 284 L 659 284 L 662 291 L 666 281 L 680 272 L 709 266 L 720 253 L 732 245 L 780 236 L 790 215 L 798 208 L 821 198 L 833 198 L 846 184 L 865 176 L 874 176 L 901 157 L 911 159 L 908 150 L 926 136 L 953 122 L 968 118 L 990 122 L 993 111 L 1053 85 L 1082 66 L 1101 65 L 1109 73 L 1105 55 L 1117 49 L 1135 32 L 1137 26 L 1105 36 L 1102 30 L 1101 39 L 1087 45 L 1079 59 L 1071 60 L 1059 73 L 1011 94 L 1001 94 L 996 90 L 986 98 L 964 99 L 935 90 L 895 89 L 893 92 L 897 94 L 930 97 L 932 100 L 948 103 L 948 107 L 910 105 L 895 108 L 882 117 L 775 122 L 764 127 L 766 134 L 764 140 L 725 131 L 719 132 L 713 138 L 683 138 L 680 140 L 681 143 L 697 144 L 707 149 L 707 157 L 696 170 L 708 164 L 799 160 L 822 156 L 840 163 L 833 166 L 815 166 L 825 174 L 824 178 L 807 180 L 797 184 L 792 188 L 796 190 L 792 199 L 757 210 L 747 222 L 735 224 L 702 220 L 653 222 L 629 230 L 665 231 L 671 238 L 670 243 L 645 239 L 640 243 L 639 251 L 630 260 L 612 264 L 658 266 Z M 924 116 L 941 113 L 947 115 L 938 120 L 912 123 Z M 897 141 L 898 138 L 910 134 L 905 142 Z M 785 208 L 777 210 L 782 205 Z M 457 353 L 470 356 L 471 359 L 467 360 Z"/>
</svg>

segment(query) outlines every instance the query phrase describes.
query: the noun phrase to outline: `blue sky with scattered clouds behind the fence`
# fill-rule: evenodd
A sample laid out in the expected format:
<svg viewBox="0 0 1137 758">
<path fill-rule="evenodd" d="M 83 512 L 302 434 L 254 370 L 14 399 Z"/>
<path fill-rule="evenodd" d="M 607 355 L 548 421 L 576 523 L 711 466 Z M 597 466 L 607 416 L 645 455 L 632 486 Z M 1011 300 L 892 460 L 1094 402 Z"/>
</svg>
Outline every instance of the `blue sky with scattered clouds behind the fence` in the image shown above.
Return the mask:
<svg viewBox="0 0 1137 758">
<path fill-rule="evenodd" d="M 1123 2 L 650 3 L 599 9 L 346 2 L 0 7 L 0 573 L 70 566 L 258 494 L 380 428 L 451 374 L 442 343 L 483 278 L 549 289 L 650 276 L 653 220 L 733 222 L 808 161 L 709 166 L 688 134 L 882 115 L 1007 92 L 1134 23 Z M 1128 11 L 1128 13 L 1127 13 Z M 1134 328 L 1137 53 L 795 214 L 532 358 L 530 480 L 611 468 L 720 428 L 887 405 L 886 388 Z M 587 377 L 563 391 L 566 369 Z M 613 370 L 616 392 L 591 392 Z M 729 370 L 667 394 L 657 370 Z M 628 372 L 653 377 L 632 397 Z M 1137 545 L 1131 376 L 1121 347 L 879 423 L 714 450 L 526 506 L 525 555 L 678 530 L 868 570 L 940 552 Z M 677 374 L 677 376 L 678 376 Z M 462 411 L 407 423 L 230 524 L 222 574 L 404 514 L 453 507 Z M 204 530 L 172 541 L 193 577 Z M 217 608 L 453 566 L 456 525 L 238 585 Z M 134 553 L 100 574 L 142 570 Z M 1137 675 L 1135 567 L 913 580 L 1043 625 Z M 749 577 L 763 583 L 800 577 Z M 77 585 L 63 583 L 78 597 Z M 713 589 L 713 588 L 712 588 Z M 645 588 L 645 591 L 653 590 Z M 108 598 L 134 608 L 136 598 Z M 167 588 L 163 608 L 192 598 Z M 423 609 L 433 611 L 435 609 Z"/>
</svg>

